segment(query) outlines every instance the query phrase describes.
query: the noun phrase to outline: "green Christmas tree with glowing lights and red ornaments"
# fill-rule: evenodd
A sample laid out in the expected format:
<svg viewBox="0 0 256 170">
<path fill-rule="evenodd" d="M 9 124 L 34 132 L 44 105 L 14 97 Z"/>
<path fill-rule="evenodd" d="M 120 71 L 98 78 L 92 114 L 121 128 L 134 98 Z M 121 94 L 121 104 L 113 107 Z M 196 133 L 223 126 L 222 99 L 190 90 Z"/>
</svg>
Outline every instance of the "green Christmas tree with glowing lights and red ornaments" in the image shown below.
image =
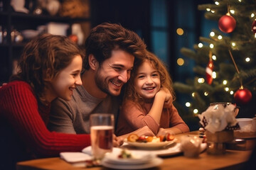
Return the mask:
<svg viewBox="0 0 256 170">
<path fill-rule="evenodd" d="M 256 1 L 213 1 L 198 5 L 198 10 L 205 10 L 205 18 L 217 21 L 219 29 L 211 30 L 208 38 L 200 37 L 193 50 L 181 48 L 196 63 L 194 79 L 174 83 L 178 93 L 191 96 L 186 114 L 193 117 L 206 111 L 210 103 L 231 102 L 240 107 L 237 118 L 254 117 Z"/>
</svg>

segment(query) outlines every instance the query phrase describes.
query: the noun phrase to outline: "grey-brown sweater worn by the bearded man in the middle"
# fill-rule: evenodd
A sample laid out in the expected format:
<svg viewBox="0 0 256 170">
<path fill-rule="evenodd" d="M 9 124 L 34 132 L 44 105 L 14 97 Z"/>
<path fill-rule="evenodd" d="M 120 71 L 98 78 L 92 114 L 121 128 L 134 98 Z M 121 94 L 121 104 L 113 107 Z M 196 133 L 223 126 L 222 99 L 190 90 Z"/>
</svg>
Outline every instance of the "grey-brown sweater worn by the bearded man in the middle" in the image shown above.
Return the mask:
<svg viewBox="0 0 256 170">
<path fill-rule="evenodd" d="M 51 103 L 48 129 L 65 133 L 90 133 L 90 114 L 112 113 L 117 120 L 119 103 L 117 97 L 108 95 L 104 99 L 90 96 L 83 86 L 73 91 L 70 101 L 56 98 Z"/>
</svg>

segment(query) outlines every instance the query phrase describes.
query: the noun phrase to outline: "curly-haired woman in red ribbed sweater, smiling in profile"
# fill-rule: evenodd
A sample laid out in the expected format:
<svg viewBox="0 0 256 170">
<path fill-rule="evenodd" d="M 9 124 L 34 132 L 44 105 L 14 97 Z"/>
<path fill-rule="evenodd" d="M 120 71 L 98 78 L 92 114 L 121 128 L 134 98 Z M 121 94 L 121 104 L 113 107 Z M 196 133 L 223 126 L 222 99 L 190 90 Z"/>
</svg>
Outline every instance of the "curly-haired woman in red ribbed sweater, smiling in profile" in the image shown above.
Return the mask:
<svg viewBox="0 0 256 170">
<path fill-rule="evenodd" d="M 41 35 L 28 42 L 20 71 L 0 89 L 0 169 L 15 169 L 18 161 L 80 152 L 90 135 L 50 132 L 50 102 L 70 100 L 81 85 L 83 54 L 74 42 L 60 35 Z"/>
</svg>

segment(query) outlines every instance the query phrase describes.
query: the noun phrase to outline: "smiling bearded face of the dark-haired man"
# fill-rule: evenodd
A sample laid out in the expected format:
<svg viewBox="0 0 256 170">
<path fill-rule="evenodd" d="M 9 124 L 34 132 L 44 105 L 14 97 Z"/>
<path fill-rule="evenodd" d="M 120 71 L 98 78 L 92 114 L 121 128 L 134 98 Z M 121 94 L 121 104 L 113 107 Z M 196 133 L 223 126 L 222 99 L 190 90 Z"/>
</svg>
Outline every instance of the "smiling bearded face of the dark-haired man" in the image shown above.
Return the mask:
<svg viewBox="0 0 256 170">
<path fill-rule="evenodd" d="M 118 96 L 122 86 L 130 78 L 134 64 L 134 56 L 124 50 L 112 50 L 109 59 L 102 62 L 95 74 L 95 81 L 99 89 L 106 94 Z"/>
</svg>

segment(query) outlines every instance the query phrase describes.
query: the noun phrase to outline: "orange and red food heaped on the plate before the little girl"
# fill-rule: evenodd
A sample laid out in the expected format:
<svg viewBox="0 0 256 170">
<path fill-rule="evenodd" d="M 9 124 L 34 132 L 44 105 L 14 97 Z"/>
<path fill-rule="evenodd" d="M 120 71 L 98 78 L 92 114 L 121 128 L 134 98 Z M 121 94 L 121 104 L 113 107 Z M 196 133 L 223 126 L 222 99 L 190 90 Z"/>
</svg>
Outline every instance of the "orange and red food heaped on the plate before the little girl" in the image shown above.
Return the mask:
<svg viewBox="0 0 256 170">
<path fill-rule="evenodd" d="M 136 134 L 131 134 L 127 137 L 128 142 L 152 142 L 152 143 L 158 143 L 158 142 L 165 142 L 165 141 L 171 141 L 174 140 L 174 135 L 171 133 L 166 133 L 166 135 L 159 135 L 159 137 L 156 136 L 138 136 Z"/>
</svg>

